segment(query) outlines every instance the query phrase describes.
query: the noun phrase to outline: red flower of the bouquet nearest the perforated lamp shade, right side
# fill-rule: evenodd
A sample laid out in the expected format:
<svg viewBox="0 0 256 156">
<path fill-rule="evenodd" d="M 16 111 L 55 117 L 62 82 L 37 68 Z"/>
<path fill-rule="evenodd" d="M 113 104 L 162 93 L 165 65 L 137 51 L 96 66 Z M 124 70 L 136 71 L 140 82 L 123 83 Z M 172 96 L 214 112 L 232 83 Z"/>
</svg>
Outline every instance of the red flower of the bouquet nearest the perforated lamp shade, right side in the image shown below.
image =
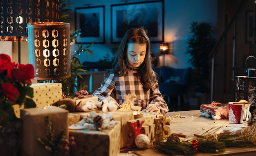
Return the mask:
<svg viewBox="0 0 256 156">
<path fill-rule="evenodd" d="M 28 81 L 34 78 L 34 67 L 31 64 L 16 64 L 12 71 L 12 77 L 18 81 Z"/>
</svg>

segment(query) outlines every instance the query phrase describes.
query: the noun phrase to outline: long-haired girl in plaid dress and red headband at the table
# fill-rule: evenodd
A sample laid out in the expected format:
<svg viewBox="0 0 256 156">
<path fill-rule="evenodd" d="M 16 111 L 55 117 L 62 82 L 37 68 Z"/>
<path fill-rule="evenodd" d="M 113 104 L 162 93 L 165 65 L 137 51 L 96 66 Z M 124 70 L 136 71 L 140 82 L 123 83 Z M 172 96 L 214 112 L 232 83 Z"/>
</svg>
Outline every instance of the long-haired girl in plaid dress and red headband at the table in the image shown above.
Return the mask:
<svg viewBox="0 0 256 156">
<path fill-rule="evenodd" d="M 150 41 L 146 31 L 133 28 L 126 32 L 117 49 L 113 68 L 92 95 L 101 101 L 116 100 L 119 105 L 124 96 L 135 93 L 133 104 L 142 111 L 165 114 L 168 106 L 158 89 L 157 77 L 151 68 Z M 114 99 L 110 97 L 114 93 Z"/>
</svg>

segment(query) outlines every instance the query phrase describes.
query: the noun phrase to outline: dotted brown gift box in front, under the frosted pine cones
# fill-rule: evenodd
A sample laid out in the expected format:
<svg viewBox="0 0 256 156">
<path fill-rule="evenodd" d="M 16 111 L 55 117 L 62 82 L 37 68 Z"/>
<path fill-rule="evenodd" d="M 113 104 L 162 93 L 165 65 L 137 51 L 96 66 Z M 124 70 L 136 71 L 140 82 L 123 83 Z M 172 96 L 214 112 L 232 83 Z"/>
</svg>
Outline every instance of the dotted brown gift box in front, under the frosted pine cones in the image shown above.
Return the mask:
<svg viewBox="0 0 256 156">
<path fill-rule="evenodd" d="M 120 151 L 120 123 L 109 130 L 69 130 L 76 145 L 70 148 L 71 156 L 117 156 Z"/>
</svg>

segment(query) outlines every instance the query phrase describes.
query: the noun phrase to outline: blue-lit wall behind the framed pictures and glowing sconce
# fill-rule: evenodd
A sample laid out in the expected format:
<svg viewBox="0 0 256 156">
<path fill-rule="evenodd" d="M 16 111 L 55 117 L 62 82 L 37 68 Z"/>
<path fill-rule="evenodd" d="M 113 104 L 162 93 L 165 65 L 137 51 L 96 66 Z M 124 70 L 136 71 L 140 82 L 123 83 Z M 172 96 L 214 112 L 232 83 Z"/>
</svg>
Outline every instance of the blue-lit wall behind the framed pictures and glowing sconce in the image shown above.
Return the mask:
<svg viewBox="0 0 256 156">
<path fill-rule="evenodd" d="M 149 1 L 149 0 L 148 0 Z M 84 61 L 98 61 L 111 51 L 111 48 L 117 47 L 118 44 L 111 44 L 111 5 L 124 4 L 120 0 L 93 0 L 84 2 L 84 0 L 70 0 L 75 3 L 71 5 L 70 9 L 74 10 L 76 7 L 87 7 L 83 4 L 90 4 L 90 6 L 105 6 L 105 44 L 94 44 L 90 49 L 95 53 L 95 57 L 91 58 L 87 54 L 80 56 L 81 62 Z M 132 2 L 143 2 L 141 0 L 130 0 Z M 178 61 L 177 64 L 171 64 L 166 56 L 166 65 L 174 68 L 186 68 L 191 66 L 188 63 L 190 58 L 186 54 L 187 40 L 189 35 L 190 23 L 193 21 L 206 21 L 212 23 L 214 26 L 217 23 L 217 0 L 165 0 L 164 1 L 164 41 L 172 42 L 172 49 Z M 74 13 L 72 13 L 74 17 Z M 74 22 L 74 21 L 73 21 Z M 75 30 L 74 23 L 72 30 Z M 152 44 L 152 52 L 159 55 L 159 43 Z M 72 49 L 76 50 L 76 45 L 72 45 Z"/>
</svg>

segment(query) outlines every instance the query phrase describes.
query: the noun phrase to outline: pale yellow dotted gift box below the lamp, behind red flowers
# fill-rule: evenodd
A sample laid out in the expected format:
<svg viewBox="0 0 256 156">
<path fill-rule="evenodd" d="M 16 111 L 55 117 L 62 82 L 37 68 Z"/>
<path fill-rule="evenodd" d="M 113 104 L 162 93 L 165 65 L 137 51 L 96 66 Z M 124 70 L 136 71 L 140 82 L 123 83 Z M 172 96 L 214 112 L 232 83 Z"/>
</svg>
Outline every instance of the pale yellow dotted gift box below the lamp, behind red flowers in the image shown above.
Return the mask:
<svg viewBox="0 0 256 156">
<path fill-rule="evenodd" d="M 36 108 L 42 108 L 46 105 L 52 105 L 54 102 L 62 99 L 61 83 L 32 83 L 30 85 L 34 90 L 33 101 L 36 103 Z M 13 105 L 13 110 L 17 118 L 20 118 L 20 109 L 23 106 Z"/>
</svg>

